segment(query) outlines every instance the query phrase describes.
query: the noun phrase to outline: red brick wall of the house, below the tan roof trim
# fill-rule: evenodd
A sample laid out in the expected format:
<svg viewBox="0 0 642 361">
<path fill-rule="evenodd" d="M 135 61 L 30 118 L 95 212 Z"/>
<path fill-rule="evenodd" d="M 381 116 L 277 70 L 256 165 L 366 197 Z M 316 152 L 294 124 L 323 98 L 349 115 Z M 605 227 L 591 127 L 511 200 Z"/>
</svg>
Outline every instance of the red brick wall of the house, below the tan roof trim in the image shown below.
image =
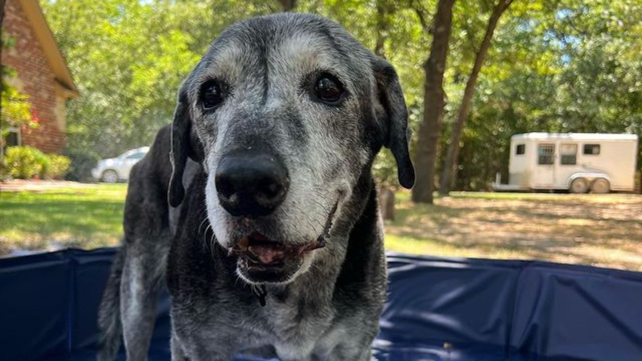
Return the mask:
<svg viewBox="0 0 642 361">
<path fill-rule="evenodd" d="M 39 128 L 22 129 L 22 145 L 35 146 L 43 152 L 61 152 L 65 148 L 65 129 L 64 119 L 56 118 L 56 80 L 17 0 L 6 1 L 2 27 L 4 35 L 15 39 L 14 48 L 3 49 L 2 64 L 17 71 L 12 83 L 31 97 L 31 111 L 40 120 Z"/>
</svg>

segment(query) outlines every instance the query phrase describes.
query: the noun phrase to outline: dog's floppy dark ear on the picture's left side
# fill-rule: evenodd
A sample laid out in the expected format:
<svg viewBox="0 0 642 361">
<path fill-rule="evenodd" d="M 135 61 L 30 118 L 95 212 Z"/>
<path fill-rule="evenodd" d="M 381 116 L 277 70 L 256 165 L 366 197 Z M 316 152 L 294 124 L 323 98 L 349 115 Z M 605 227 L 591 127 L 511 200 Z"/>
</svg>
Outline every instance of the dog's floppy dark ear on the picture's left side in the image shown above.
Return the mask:
<svg viewBox="0 0 642 361">
<path fill-rule="evenodd" d="M 183 172 L 187 157 L 196 162 L 203 159 L 203 147 L 200 140 L 193 132 L 192 120 L 189 115 L 187 92 L 181 88 L 178 92 L 178 104 L 174 110 L 174 119 L 171 122 L 171 179 L 169 180 L 168 199 L 169 205 L 178 207 L 185 198 L 183 187 Z"/>
</svg>

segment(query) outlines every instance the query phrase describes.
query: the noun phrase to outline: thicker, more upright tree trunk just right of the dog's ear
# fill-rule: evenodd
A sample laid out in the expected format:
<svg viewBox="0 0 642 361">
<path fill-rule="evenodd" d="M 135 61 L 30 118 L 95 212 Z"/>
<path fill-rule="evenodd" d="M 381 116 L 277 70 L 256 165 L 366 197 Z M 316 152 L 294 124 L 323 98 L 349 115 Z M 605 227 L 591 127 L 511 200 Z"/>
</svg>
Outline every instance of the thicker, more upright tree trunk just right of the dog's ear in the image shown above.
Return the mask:
<svg viewBox="0 0 642 361">
<path fill-rule="evenodd" d="M 444 71 L 448 42 L 453 24 L 455 0 L 439 0 L 433 21 L 433 42 L 424 63 L 424 119 L 419 125 L 415 168 L 417 180 L 412 189 L 413 202 L 432 203 L 435 187 L 435 161 L 444 118 Z M 420 19 L 422 19 L 420 17 Z M 426 26 L 424 26 L 426 28 Z"/>
</svg>

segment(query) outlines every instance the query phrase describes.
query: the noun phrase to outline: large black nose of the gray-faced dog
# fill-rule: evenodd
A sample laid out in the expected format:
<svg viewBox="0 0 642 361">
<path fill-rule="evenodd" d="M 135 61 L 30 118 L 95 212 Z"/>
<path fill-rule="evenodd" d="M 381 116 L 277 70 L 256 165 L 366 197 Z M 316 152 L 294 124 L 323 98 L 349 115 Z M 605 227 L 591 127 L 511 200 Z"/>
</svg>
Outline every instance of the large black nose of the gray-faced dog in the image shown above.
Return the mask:
<svg viewBox="0 0 642 361">
<path fill-rule="evenodd" d="M 269 215 L 288 192 L 288 170 L 266 153 L 236 152 L 221 158 L 215 175 L 218 200 L 233 216 Z"/>
</svg>

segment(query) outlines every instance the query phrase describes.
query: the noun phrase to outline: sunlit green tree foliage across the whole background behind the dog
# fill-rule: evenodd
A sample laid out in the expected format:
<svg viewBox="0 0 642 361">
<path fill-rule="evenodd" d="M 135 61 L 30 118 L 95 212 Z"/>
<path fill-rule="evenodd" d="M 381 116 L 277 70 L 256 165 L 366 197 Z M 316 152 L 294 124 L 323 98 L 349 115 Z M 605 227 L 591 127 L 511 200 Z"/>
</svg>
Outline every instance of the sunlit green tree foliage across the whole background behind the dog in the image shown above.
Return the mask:
<svg viewBox="0 0 642 361">
<path fill-rule="evenodd" d="M 296 10 L 340 22 L 394 64 L 416 131 L 422 64 L 431 43 L 424 25 L 430 26 L 436 3 L 306 0 L 297 1 Z M 444 140 L 495 3 L 455 3 Z M 180 82 L 226 26 L 281 10 L 277 1 L 256 0 L 49 0 L 42 7 L 81 93 L 67 106 L 69 144 L 102 157 L 151 143 L 171 120 Z M 640 53 L 639 0 L 514 1 L 480 73 L 460 142 L 455 188 L 487 189 L 496 172 L 507 173 L 513 134 L 642 134 Z M 447 141 L 441 144 L 445 148 Z M 74 162 L 71 168 L 69 177 L 78 177 Z M 377 157 L 374 172 L 380 183 L 396 184 L 389 154 Z"/>
</svg>

